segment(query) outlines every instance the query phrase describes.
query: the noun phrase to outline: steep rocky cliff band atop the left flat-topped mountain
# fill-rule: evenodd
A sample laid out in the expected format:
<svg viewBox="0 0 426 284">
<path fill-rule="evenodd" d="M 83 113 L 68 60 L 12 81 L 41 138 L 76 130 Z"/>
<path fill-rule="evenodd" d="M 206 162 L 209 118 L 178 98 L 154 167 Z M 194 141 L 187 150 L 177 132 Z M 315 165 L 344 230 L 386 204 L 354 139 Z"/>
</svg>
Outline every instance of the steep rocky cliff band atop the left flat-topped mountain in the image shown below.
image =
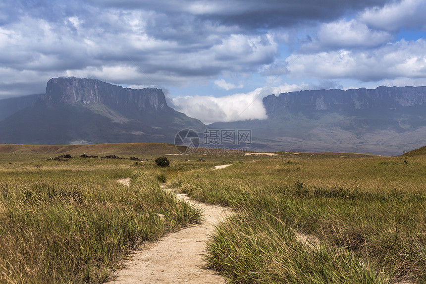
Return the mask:
<svg viewBox="0 0 426 284">
<path fill-rule="evenodd" d="M 161 89 L 130 89 L 94 79 L 60 77 L 49 80 L 46 95 L 48 106 L 95 105 L 129 112 L 171 112 Z"/>
</svg>

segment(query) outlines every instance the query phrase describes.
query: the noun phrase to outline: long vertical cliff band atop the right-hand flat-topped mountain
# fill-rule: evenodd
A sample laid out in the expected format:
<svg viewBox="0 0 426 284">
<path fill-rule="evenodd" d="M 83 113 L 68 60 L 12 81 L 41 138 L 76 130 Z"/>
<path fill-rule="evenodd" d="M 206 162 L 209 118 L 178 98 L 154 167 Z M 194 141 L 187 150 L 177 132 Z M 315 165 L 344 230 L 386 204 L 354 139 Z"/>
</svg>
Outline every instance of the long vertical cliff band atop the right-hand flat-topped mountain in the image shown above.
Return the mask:
<svg viewBox="0 0 426 284">
<path fill-rule="evenodd" d="M 357 110 L 393 110 L 426 106 L 426 87 L 384 87 L 368 90 L 316 90 L 270 95 L 263 103 L 268 116 L 291 109 L 299 111 L 354 112 Z"/>
</svg>

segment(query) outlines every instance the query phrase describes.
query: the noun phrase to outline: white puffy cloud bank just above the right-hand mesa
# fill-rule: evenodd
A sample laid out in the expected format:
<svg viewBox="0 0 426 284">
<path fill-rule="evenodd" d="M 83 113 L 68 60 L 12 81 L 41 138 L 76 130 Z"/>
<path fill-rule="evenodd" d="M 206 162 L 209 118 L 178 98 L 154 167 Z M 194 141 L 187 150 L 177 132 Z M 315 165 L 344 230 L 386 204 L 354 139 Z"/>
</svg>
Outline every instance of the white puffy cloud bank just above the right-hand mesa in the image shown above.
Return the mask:
<svg viewBox="0 0 426 284">
<path fill-rule="evenodd" d="M 296 78 L 353 78 L 363 82 L 426 77 L 426 40 L 401 40 L 374 50 L 338 50 L 286 59 Z"/>
</svg>

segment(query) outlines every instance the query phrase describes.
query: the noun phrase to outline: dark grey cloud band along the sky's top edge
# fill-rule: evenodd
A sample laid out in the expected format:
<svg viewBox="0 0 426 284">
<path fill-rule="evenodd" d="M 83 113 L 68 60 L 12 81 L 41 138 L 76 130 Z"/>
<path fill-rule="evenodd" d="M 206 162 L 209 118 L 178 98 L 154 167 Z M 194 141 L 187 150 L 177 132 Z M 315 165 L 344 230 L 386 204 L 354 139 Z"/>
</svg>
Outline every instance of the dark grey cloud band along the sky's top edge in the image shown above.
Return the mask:
<svg viewBox="0 0 426 284">
<path fill-rule="evenodd" d="M 210 19 L 225 25 L 249 29 L 296 25 L 305 21 L 331 21 L 348 10 L 362 11 L 368 7 L 383 6 L 386 0 L 92 0 L 96 5 L 161 11 L 176 15 L 188 14 Z"/>
</svg>

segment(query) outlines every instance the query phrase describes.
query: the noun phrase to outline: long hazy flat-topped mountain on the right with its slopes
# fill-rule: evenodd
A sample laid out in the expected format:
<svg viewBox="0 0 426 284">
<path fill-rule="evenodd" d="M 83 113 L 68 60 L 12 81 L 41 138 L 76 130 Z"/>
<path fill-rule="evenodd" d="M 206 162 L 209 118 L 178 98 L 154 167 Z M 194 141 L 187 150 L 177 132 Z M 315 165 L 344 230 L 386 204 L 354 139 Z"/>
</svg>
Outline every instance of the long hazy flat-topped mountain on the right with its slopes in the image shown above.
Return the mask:
<svg viewBox="0 0 426 284">
<path fill-rule="evenodd" d="M 269 95 L 265 120 L 213 123 L 252 130 L 253 150 L 399 155 L 426 144 L 426 87 Z"/>
</svg>

